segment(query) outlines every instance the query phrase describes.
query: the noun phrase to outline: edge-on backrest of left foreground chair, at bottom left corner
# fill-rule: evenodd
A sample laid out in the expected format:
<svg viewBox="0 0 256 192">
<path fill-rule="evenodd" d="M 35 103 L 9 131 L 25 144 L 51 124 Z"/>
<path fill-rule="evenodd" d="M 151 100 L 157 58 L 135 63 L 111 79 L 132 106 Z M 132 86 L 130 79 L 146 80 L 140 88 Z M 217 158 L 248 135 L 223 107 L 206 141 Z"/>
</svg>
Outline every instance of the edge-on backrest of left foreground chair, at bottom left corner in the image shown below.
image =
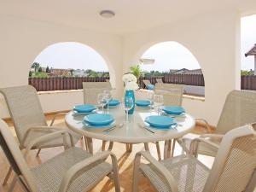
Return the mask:
<svg viewBox="0 0 256 192">
<path fill-rule="evenodd" d="M 21 154 L 20 148 L 15 142 L 15 138 L 9 130 L 8 125 L 2 119 L 0 119 L 0 145 L 15 174 L 22 179 L 22 182 L 26 183 L 30 191 L 37 192 L 38 187 L 32 176 L 32 172 L 23 154 Z"/>
</svg>

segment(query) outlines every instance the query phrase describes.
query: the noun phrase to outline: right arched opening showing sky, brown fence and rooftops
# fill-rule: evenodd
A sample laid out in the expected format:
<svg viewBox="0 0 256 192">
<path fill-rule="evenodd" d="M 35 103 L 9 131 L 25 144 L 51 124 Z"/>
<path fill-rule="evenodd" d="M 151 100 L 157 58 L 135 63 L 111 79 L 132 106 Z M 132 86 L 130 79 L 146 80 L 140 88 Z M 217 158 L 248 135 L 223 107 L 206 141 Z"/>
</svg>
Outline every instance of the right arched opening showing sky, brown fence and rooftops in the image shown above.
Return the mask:
<svg viewBox="0 0 256 192">
<path fill-rule="evenodd" d="M 184 93 L 205 95 L 205 82 L 199 62 L 182 44 L 173 41 L 154 44 L 141 56 L 141 69 L 145 79 L 155 83 L 185 84 Z"/>
</svg>

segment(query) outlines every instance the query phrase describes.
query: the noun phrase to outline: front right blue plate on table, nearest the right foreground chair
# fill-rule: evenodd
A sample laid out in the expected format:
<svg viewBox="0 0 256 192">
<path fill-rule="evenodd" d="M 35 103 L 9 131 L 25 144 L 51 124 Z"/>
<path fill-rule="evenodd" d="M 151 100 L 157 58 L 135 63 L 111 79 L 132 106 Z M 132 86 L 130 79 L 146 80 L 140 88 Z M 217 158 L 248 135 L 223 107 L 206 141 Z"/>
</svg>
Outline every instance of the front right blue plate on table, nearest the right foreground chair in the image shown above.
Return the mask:
<svg viewBox="0 0 256 192">
<path fill-rule="evenodd" d="M 170 128 L 171 125 L 176 125 L 174 119 L 166 116 L 151 115 L 145 119 L 145 122 L 155 128 Z"/>
</svg>

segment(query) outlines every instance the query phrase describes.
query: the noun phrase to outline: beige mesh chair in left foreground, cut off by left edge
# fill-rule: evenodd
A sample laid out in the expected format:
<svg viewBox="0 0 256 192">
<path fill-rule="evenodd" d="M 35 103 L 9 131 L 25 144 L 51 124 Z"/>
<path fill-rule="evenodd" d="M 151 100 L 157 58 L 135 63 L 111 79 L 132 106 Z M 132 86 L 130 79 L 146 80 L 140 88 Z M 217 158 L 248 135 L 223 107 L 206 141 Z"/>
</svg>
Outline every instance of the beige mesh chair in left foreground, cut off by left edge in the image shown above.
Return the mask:
<svg viewBox="0 0 256 192">
<path fill-rule="evenodd" d="M 66 142 L 67 137 L 63 135 L 70 136 L 70 146 Z M 33 140 L 27 145 L 25 156 L 34 146 L 38 148 L 60 136 L 63 144 L 70 148 L 31 169 L 15 143 L 8 125 L 0 120 L 0 144 L 15 172 L 9 191 L 13 191 L 16 182 L 27 192 L 88 191 L 105 176 L 113 177 L 115 190 L 120 191 L 115 155 L 109 151 L 92 155 L 81 148 L 73 147 L 73 137 L 67 130 L 55 131 Z M 108 156 L 111 156 L 112 165 L 103 160 Z"/>
</svg>

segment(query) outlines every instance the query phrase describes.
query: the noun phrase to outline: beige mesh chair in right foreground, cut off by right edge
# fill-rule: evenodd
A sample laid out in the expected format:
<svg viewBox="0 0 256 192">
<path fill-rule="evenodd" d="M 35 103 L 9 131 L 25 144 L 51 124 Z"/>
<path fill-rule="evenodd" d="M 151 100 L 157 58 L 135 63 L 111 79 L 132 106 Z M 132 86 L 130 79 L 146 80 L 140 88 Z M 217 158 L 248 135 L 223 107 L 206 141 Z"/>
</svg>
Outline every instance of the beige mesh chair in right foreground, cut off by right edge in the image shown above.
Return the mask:
<svg viewBox="0 0 256 192">
<path fill-rule="evenodd" d="M 198 141 L 191 144 L 196 152 Z M 135 158 L 133 192 L 137 191 L 139 175 L 148 177 L 160 192 L 253 192 L 256 185 L 256 131 L 245 125 L 229 131 L 218 149 L 212 169 L 209 170 L 192 155 L 180 155 L 157 161 L 148 152 L 139 152 Z M 143 156 L 149 164 L 141 164 Z"/>
</svg>

